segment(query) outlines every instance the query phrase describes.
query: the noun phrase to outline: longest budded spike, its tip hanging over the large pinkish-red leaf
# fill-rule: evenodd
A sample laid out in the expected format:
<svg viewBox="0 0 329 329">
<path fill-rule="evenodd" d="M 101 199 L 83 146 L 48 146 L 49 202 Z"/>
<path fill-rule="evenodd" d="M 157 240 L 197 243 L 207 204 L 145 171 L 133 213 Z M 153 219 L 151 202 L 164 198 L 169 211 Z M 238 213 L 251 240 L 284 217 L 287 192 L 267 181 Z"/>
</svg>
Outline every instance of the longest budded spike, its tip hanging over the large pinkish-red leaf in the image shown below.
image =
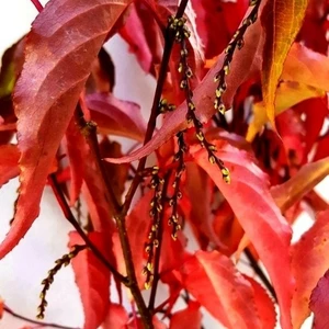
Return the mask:
<svg viewBox="0 0 329 329">
<path fill-rule="evenodd" d="M 184 91 L 185 100 L 188 104 L 186 120 L 189 123 L 193 123 L 195 127 L 195 135 L 202 147 L 207 150 L 208 160 L 213 164 L 217 164 L 222 171 L 223 179 L 226 183 L 230 183 L 229 170 L 224 166 L 224 162 L 218 159 L 215 155 L 215 145 L 207 141 L 203 133 L 203 124 L 195 115 L 195 104 L 193 102 L 193 91 L 191 88 L 191 78 L 193 77 L 193 71 L 188 63 L 189 50 L 186 47 L 186 39 L 190 37 L 190 31 L 188 30 L 186 20 L 184 18 L 169 19 L 169 27 L 175 31 L 174 39 L 180 44 L 180 61 L 178 65 L 178 71 L 181 73 L 180 88 Z"/>
</svg>

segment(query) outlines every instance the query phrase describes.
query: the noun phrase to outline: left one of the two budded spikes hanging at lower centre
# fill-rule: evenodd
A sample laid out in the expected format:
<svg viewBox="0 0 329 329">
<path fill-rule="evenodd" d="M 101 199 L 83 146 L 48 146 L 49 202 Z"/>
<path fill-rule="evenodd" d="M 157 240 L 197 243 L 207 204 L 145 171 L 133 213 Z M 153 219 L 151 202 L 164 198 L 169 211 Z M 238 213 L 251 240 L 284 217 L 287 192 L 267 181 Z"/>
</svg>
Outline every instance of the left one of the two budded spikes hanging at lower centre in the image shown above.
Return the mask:
<svg viewBox="0 0 329 329">
<path fill-rule="evenodd" d="M 148 234 L 148 241 L 145 246 L 145 252 L 147 253 L 147 262 L 143 269 L 143 274 L 146 275 L 145 288 L 150 288 L 154 281 L 154 259 L 155 250 L 159 247 L 159 234 L 160 234 L 160 222 L 162 207 L 162 186 L 164 180 L 159 175 L 159 168 L 151 168 L 151 181 L 150 186 L 154 189 L 154 197 L 150 202 L 149 215 L 152 218 L 151 227 Z"/>
</svg>

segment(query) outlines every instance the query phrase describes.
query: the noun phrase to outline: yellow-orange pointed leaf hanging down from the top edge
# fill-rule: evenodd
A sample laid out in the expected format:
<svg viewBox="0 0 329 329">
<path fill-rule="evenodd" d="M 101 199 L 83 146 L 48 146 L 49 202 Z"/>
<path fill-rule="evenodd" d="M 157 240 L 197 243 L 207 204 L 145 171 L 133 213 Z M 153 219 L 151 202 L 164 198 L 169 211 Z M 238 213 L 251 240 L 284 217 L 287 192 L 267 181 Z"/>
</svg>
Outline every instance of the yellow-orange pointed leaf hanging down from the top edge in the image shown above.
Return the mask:
<svg viewBox="0 0 329 329">
<path fill-rule="evenodd" d="M 307 3 L 308 0 L 268 0 L 261 13 L 264 31 L 263 100 L 268 118 L 273 126 L 277 82 L 288 50 L 302 26 Z"/>
</svg>

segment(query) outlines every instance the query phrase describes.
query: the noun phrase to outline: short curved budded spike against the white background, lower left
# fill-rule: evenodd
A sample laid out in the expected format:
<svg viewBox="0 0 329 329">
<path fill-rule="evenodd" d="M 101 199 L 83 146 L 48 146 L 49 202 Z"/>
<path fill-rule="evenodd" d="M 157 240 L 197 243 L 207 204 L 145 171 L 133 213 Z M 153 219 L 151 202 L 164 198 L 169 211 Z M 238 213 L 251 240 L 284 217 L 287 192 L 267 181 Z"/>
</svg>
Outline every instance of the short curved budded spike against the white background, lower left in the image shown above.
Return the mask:
<svg viewBox="0 0 329 329">
<path fill-rule="evenodd" d="M 41 304 L 37 307 L 37 318 L 38 319 L 43 319 L 45 316 L 45 310 L 46 307 L 48 305 L 47 300 L 46 300 L 46 294 L 52 285 L 52 283 L 54 282 L 54 277 L 56 275 L 56 273 L 63 268 L 63 266 L 67 266 L 71 259 L 75 258 L 80 251 L 84 250 L 87 248 L 87 246 L 73 246 L 72 250 L 63 256 L 60 259 L 56 260 L 55 263 L 56 265 L 48 271 L 48 276 L 46 279 L 43 280 L 42 285 L 44 286 L 41 294 L 39 294 L 39 298 L 41 298 Z"/>
</svg>

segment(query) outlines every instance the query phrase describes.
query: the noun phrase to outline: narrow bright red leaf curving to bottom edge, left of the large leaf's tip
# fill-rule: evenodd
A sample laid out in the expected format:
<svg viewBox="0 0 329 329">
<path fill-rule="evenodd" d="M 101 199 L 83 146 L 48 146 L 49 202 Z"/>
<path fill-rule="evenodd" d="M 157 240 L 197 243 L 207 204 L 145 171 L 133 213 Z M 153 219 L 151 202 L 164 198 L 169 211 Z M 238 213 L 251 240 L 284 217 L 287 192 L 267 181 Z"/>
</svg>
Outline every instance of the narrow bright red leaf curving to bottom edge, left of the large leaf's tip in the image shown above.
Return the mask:
<svg viewBox="0 0 329 329">
<path fill-rule="evenodd" d="M 254 302 L 258 309 L 258 314 L 260 317 L 260 320 L 262 322 L 262 329 L 273 329 L 275 328 L 276 324 L 276 313 L 274 303 L 270 298 L 269 294 L 265 292 L 265 290 L 252 277 L 243 275 L 245 279 L 247 279 L 254 292 Z"/>
</svg>

